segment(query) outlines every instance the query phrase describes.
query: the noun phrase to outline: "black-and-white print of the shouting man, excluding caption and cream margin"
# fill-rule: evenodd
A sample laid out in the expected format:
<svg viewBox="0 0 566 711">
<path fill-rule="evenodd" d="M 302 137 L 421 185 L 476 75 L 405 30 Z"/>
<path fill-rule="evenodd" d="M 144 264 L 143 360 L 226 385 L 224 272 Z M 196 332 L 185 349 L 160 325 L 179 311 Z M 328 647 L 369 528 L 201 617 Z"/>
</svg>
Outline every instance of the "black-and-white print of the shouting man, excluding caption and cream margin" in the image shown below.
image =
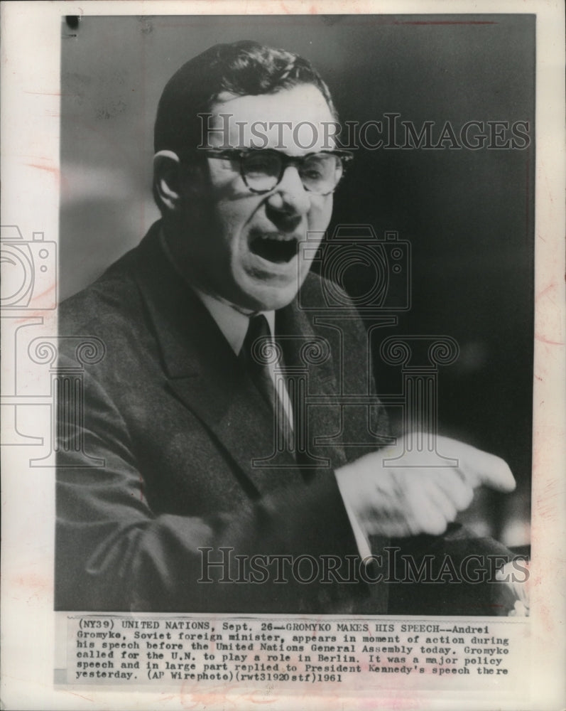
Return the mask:
<svg viewBox="0 0 566 711">
<path fill-rule="evenodd" d="M 534 31 L 65 19 L 57 609 L 526 614 Z"/>
</svg>

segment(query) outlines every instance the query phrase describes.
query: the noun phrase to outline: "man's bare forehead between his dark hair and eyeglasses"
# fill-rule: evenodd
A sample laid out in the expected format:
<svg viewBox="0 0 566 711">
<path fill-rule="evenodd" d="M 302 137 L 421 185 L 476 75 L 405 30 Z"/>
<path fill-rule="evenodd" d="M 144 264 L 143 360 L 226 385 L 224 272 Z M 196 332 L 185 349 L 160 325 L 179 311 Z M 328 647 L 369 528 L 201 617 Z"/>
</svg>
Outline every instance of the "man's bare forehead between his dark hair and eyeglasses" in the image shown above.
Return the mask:
<svg viewBox="0 0 566 711">
<path fill-rule="evenodd" d="M 228 141 L 232 148 L 252 146 L 289 154 L 334 147 L 337 122 L 325 97 L 312 84 L 271 94 L 234 96 L 224 92 L 210 113 L 210 146 L 228 147 Z"/>
</svg>

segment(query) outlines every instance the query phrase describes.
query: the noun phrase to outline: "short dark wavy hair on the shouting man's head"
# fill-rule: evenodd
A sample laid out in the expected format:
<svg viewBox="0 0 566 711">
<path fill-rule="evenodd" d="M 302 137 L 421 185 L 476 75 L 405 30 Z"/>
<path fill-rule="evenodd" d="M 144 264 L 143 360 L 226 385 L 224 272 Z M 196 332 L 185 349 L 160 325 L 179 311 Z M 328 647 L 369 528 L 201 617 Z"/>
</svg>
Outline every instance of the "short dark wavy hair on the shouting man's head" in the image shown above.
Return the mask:
<svg viewBox="0 0 566 711">
<path fill-rule="evenodd" d="M 317 87 L 337 120 L 330 91 L 308 60 L 250 40 L 214 45 L 185 63 L 165 85 L 157 109 L 154 149 L 179 155 L 195 149 L 202 141 L 197 116 L 209 112 L 222 92 L 274 94 L 301 84 Z"/>
</svg>

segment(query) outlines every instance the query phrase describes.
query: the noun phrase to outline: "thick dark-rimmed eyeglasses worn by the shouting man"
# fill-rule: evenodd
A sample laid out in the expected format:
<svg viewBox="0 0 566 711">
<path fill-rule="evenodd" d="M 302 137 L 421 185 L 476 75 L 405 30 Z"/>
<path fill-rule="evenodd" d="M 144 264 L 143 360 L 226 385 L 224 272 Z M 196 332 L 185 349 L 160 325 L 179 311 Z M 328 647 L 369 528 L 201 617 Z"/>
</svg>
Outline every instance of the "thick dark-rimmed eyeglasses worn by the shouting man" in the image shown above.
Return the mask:
<svg viewBox="0 0 566 711">
<path fill-rule="evenodd" d="M 305 190 L 330 195 L 354 157 L 349 151 L 321 151 L 305 156 L 288 156 L 272 149 L 207 149 L 209 158 L 239 161 L 241 177 L 253 193 L 268 193 L 276 188 L 288 166 L 295 166 Z"/>
</svg>

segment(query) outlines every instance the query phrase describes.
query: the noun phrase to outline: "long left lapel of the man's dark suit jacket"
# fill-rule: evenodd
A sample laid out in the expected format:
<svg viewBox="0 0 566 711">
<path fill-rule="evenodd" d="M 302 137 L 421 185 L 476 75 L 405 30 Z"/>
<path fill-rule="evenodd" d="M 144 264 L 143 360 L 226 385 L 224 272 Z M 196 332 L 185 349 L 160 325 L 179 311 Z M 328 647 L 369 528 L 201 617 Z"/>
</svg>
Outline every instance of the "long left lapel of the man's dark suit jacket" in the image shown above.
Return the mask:
<svg viewBox="0 0 566 711">
<path fill-rule="evenodd" d="M 200 299 L 171 267 L 154 225 L 138 247 L 136 279 L 160 346 L 168 387 L 200 419 L 236 466 L 251 496 L 261 496 L 300 472 L 254 466 L 274 449 L 273 415 Z"/>
</svg>

